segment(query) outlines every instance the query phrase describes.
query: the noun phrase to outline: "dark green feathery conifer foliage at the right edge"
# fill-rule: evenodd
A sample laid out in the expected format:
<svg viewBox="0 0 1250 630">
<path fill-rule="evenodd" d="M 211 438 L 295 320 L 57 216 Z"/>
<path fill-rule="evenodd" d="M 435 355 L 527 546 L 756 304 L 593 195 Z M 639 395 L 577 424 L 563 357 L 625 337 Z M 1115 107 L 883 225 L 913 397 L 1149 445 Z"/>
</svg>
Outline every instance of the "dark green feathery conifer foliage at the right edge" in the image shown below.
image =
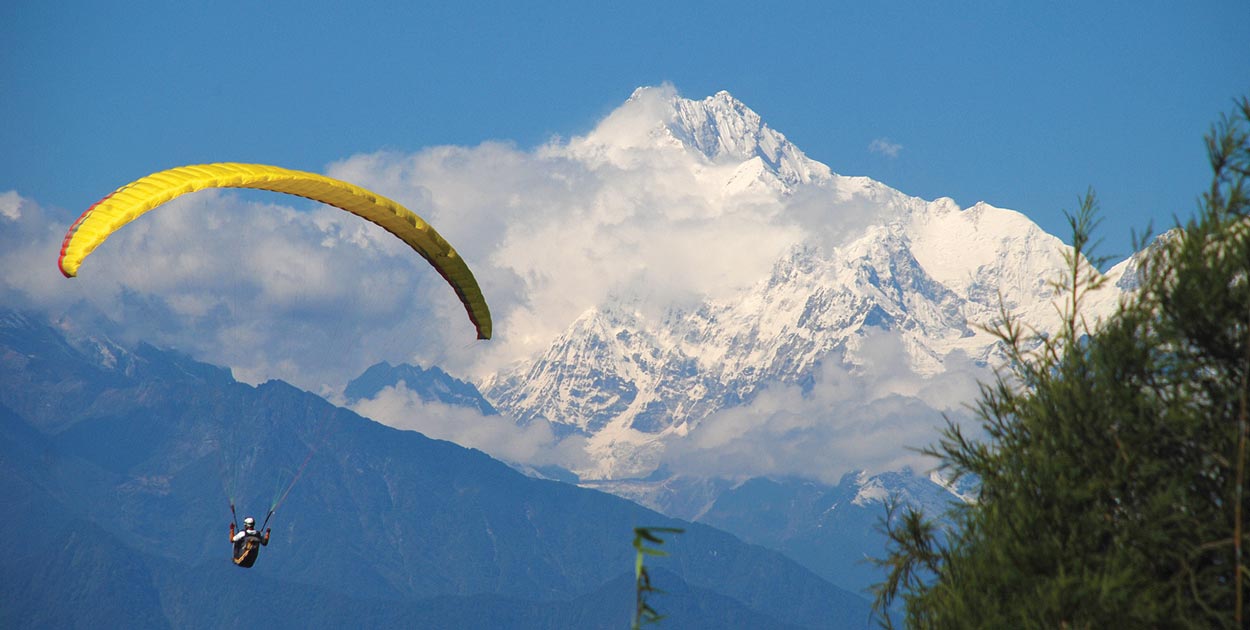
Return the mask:
<svg viewBox="0 0 1250 630">
<path fill-rule="evenodd" d="M 1106 321 L 1081 314 L 1101 281 L 1092 192 L 1069 216 L 1064 325 L 1004 312 L 979 428 L 948 420 L 925 450 L 979 498 L 950 529 L 890 506 L 882 616 L 901 601 L 909 628 L 1248 628 L 1250 100 L 1206 146 L 1196 216 L 1154 241 Z"/>
</svg>

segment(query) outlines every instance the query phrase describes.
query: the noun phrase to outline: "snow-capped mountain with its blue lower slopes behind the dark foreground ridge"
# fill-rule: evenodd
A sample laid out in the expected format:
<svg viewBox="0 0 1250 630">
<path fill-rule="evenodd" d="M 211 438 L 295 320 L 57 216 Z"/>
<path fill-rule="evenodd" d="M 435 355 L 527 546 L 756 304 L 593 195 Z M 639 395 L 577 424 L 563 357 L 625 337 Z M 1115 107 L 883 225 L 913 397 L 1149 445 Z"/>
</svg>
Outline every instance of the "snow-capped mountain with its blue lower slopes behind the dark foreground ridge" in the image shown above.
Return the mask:
<svg viewBox="0 0 1250 630">
<path fill-rule="evenodd" d="M 519 425 L 584 440 L 568 471 L 518 469 L 715 525 L 856 592 L 879 579 L 865 560 L 882 554 L 886 498 L 940 516 L 975 496 L 974 482 L 948 484 L 908 448 L 935 439 L 944 416 L 966 420 L 976 382 L 1001 364 L 989 329 L 1004 314 L 1038 331 L 1058 324 L 1052 281 L 1070 255 L 1060 239 L 1012 210 L 839 175 L 724 91 L 639 89 L 552 151 L 590 170 L 664 164 L 712 212 L 799 215 L 802 229 L 736 291 L 659 309 L 611 294 L 479 380 Z M 1132 290 L 1134 261 L 1106 270 L 1085 304 L 1091 320 Z M 370 379 L 431 389 L 399 370 L 375 366 Z M 365 380 L 349 385 L 350 401 L 379 394 Z"/>
</svg>

